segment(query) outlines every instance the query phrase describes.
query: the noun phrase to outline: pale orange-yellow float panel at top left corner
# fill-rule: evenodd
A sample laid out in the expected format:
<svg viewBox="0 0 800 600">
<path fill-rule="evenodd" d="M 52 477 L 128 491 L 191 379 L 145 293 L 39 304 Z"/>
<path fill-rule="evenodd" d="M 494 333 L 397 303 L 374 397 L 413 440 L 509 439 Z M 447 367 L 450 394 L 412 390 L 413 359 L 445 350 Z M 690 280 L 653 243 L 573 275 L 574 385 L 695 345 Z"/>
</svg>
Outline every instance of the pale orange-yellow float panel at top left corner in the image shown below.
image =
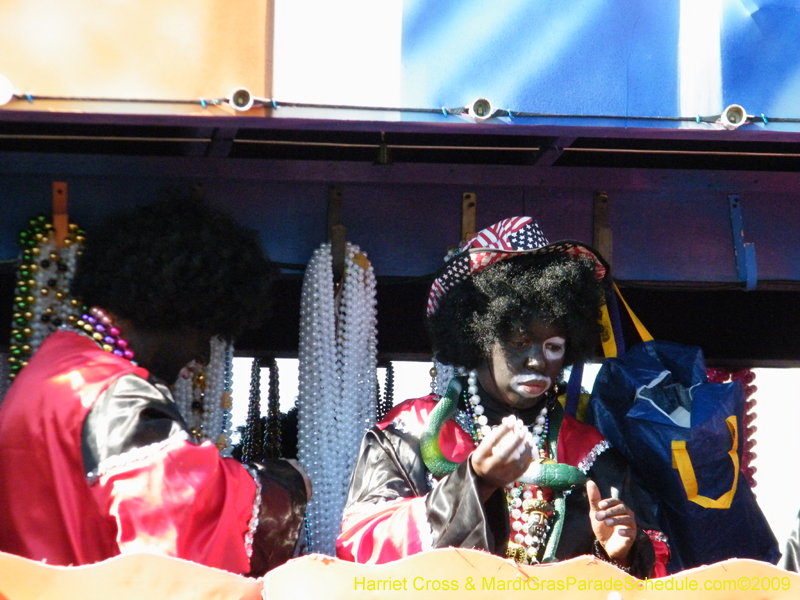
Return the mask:
<svg viewBox="0 0 800 600">
<path fill-rule="evenodd" d="M 200 98 L 272 94 L 272 0 L 0 0 L 0 110 L 225 114 Z M 196 104 L 37 100 L 37 96 Z M 263 109 L 251 110 L 259 114 Z"/>
</svg>

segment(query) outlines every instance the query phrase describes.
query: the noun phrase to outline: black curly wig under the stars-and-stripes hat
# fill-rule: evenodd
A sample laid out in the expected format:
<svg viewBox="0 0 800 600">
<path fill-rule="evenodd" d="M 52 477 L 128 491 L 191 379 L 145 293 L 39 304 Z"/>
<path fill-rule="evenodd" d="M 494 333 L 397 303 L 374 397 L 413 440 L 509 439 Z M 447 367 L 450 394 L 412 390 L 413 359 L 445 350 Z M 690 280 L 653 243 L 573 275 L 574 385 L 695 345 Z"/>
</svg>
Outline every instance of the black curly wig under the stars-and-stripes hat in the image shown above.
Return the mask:
<svg viewBox="0 0 800 600">
<path fill-rule="evenodd" d="M 564 328 L 571 365 L 593 355 L 603 302 L 591 258 L 527 254 L 456 284 L 428 318 L 428 334 L 437 360 L 474 369 L 496 340 L 538 318 Z"/>
</svg>

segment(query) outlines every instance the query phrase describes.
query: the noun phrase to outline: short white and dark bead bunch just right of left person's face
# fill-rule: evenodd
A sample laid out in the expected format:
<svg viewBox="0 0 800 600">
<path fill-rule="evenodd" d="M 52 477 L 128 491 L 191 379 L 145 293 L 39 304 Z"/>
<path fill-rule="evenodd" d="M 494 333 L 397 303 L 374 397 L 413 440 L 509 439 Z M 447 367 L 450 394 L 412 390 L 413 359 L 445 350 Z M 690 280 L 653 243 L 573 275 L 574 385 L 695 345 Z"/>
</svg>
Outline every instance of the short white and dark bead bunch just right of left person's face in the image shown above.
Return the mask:
<svg viewBox="0 0 800 600">
<path fill-rule="evenodd" d="M 190 362 L 172 385 L 175 404 L 194 439 L 211 440 L 223 456 L 231 450 L 232 363 L 233 347 L 215 337 L 208 364 Z"/>
</svg>

